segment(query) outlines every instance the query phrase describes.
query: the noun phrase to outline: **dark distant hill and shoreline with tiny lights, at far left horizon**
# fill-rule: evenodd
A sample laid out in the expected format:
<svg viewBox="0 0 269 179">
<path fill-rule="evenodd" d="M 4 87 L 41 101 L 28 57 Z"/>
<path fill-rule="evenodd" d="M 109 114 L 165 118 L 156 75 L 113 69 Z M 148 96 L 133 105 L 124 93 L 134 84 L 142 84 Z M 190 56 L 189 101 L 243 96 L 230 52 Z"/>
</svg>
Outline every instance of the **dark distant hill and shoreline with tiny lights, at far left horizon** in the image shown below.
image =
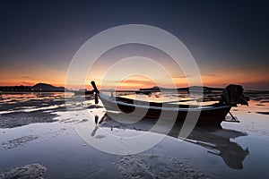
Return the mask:
<svg viewBox="0 0 269 179">
<path fill-rule="evenodd" d="M 55 87 L 51 84 L 38 83 L 34 86 L 4 86 L 0 87 L 1 91 L 65 91 L 64 87 Z"/>
</svg>

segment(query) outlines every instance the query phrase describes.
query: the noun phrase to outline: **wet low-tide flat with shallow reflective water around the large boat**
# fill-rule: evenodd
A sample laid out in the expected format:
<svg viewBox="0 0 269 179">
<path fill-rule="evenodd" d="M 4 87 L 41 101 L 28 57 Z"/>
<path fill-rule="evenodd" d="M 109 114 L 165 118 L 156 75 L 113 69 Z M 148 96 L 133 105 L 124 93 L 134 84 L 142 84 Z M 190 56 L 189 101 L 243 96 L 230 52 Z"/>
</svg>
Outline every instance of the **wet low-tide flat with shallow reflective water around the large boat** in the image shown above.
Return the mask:
<svg viewBox="0 0 269 179">
<path fill-rule="evenodd" d="M 185 141 L 175 124 L 169 133 L 153 132 L 162 140 L 152 148 L 116 155 L 91 142 L 112 148 L 109 136 L 125 141 L 155 122 L 121 124 L 93 98 L 72 93 L 2 94 L 0 178 L 268 178 L 269 98 L 249 97 L 249 107 L 231 109 L 240 123 L 199 126 Z"/>
</svg>

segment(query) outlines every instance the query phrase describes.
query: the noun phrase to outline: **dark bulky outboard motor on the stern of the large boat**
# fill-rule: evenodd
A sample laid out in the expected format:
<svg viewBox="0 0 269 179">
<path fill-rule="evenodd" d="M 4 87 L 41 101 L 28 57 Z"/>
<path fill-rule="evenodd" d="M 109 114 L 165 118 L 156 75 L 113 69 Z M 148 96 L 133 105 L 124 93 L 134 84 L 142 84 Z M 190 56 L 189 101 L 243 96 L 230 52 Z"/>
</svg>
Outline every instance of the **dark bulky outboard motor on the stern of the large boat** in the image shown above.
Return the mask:
<svg viewBox="0 0 269 179">
<path fill-rule="evenodd" d="M 221 94 L 221 104 L 237 107 L 240 105 L 247 105 L 248 98 L 243 95 L 243 87 L 241 85 L 230 84 L 227 86 Z"/>
</svg>

